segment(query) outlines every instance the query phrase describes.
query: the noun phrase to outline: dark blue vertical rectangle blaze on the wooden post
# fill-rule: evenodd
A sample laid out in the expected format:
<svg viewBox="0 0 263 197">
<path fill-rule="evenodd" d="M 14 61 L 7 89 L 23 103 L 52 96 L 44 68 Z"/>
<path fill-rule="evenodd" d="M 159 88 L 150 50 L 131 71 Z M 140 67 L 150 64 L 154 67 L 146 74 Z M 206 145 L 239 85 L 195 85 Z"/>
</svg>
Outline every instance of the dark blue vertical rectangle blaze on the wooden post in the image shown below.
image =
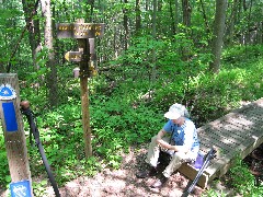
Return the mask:
<svg viewBox="0 0 263 197">
<path fill-rule="evenodd" d="M 7 126 L 8 132 L 18 131 L 18 121 L 14 111 L 13 102 L 2 103 L 3 117 Z"/>
</svg>

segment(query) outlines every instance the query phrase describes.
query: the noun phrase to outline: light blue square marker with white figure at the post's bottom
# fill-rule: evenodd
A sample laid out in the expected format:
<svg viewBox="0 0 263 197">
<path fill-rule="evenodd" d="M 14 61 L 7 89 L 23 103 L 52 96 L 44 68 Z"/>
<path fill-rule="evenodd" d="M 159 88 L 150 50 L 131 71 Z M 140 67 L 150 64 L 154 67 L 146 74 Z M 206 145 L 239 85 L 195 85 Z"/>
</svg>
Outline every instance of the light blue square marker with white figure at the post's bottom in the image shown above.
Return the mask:
<svg viewBox="0 0 263 197">
<path fill-rule="evenodd" d="M 10 184 L 11 197 L 32 197 L 30 181 Z"/>
</svg>

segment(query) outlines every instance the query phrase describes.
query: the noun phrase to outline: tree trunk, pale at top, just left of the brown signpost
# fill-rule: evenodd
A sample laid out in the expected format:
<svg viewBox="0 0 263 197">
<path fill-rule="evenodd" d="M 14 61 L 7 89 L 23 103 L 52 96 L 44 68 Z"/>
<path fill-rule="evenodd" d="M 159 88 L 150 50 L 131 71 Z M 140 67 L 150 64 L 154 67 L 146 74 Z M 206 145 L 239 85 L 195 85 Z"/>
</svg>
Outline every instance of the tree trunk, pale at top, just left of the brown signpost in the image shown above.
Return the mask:
<svg viewBox="0 0 263 197">
<path fill-rule="evenodd" d="M 53 47 L 53 25 L 52 25 L 52 5 L 50 0 L 42 1 L 42 13 L 45 16 L 45 46 L 48 49 L 48 61 L 46 63 L 48 71 L 46 82 L 48 86 L 48 100 L 52 106 L 58 104 L 58 88 L 57 88 L 57 68 L 55 53 Z"/>
</svg>

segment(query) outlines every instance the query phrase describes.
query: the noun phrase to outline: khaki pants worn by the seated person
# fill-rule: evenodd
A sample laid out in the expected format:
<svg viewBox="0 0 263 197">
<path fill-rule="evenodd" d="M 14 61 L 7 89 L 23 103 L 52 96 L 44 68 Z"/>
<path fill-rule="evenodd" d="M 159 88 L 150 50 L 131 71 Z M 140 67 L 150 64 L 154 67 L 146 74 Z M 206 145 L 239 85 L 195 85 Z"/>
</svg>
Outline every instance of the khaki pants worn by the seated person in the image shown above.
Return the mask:
<svg viewBox="0 0 263 197">
<path fill-rule="evenodd" d="M 170 138 L 164 137 L 162 140 L 169 142 Z M 160 146 L 157 143 L 157 136 L 151 138 L 151 142 L 148 149 L 148 154 L 146 158 L 146 162 L 152 166 L 157 166 L 159 153 L 161 151 Z M 196 153 L 194 152 L 175 152 L 173 158 L 171 159 L 169 165 L 162 172 L 165 177 L 170 177 L 174 171 L 176 171 L 183 163 L 190 162 L 196 159 Z"/>
</svg>

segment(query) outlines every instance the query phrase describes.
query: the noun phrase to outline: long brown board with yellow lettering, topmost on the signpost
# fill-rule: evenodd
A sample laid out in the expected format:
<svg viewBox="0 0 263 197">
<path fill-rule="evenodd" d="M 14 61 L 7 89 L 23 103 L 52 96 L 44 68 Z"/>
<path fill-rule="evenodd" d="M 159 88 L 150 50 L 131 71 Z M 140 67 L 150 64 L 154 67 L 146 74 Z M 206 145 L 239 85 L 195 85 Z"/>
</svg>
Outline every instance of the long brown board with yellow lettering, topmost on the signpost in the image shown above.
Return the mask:
<svg viewBox="0 0 263 197">
<path fill-rule="evenodd" d="M 58 23 L 58 38 L 93 38 L 104 34 L 103 23 Z"/>
</svg>

